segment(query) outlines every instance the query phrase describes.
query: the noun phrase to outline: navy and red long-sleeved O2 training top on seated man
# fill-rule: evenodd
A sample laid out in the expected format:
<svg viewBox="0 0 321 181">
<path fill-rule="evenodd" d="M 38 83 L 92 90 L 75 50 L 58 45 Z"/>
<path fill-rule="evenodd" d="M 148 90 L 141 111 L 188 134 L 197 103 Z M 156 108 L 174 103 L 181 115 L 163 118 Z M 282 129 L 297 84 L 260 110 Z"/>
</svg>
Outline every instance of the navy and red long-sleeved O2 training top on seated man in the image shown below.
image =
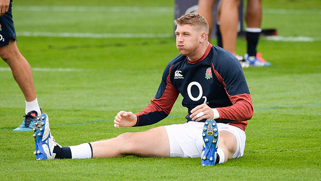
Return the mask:
<svg viewBox="0 0 321 181">
<path fill-rule="evenodd" d="M 150 104 L 136 113 L 135 126 L 157 123 L 166 118 L 179 94 L 189 115 L 198 105 L 216 108 L 218 123 L 229 123 L 245 130 L 253 116 L 253 105 L 241 64 L 229 51 L 209 43 L 204 55 L 196 61 L 178 55 L 166 66 L 162 82 Z M 201 120 L 205 122 L 206 119 Z"/>
</svg>

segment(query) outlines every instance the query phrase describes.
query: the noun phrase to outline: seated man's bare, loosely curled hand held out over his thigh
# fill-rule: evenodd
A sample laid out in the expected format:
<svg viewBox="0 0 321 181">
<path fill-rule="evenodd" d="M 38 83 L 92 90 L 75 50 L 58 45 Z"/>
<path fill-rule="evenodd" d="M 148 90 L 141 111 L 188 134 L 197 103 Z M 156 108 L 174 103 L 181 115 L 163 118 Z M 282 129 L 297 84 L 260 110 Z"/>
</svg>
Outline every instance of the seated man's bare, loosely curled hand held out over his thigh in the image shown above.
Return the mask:
<svg viewBox="0 0 321 181">
<path fill-rule="evenodd" d="M 115 128 L 121 127 L 131 127 L 134 126 L 137 122 L 137 117 L 132 112 L 120 111 L 117 113 L 114 119 Z"/>
</svg>

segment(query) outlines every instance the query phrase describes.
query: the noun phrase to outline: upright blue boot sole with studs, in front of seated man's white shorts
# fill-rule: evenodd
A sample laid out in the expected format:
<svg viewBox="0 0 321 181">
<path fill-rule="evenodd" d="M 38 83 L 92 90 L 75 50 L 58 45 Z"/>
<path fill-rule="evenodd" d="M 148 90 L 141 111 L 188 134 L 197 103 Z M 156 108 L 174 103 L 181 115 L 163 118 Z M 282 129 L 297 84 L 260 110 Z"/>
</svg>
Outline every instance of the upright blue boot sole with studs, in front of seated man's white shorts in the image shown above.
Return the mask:
<svg viewBox="0 0 321 181">
<path fill-rule="evenodd" d="M 206 120 L 202 136 L 202 165 L 214 165 L 216 161 L 216 152 L 219 145 L 219 131 L 217 129 L 217 124 L 213 119 Z"/>
</svg>

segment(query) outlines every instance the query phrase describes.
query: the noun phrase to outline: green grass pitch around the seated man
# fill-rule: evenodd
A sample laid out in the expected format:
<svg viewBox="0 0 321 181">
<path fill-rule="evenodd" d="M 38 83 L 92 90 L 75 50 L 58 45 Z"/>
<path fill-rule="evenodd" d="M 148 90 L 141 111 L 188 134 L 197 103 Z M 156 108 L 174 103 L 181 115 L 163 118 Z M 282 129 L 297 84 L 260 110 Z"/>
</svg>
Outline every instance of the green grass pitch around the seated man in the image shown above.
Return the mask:
<svg viewBox="0 0 321 181">
<path fill-rule="evenodd" d="M 29 11 L 30 6 L 141 7 L 143 12 Z M 174 38 L 23 37 L 19 32 L 173 32 L 174 1 L 15 0 L 18 46 L 33 68 L 39 104 L 63 146 L 115 137 L 124 132 L 184 123 L 180 97 L 169 118 L 146 127 L 113 127 L 120 110 L 138 112 L 153 98 L 165 66 L 178 51 Z M 165 7 L 151 13 L 143 7 Z M 264 9 L 265 8 L 265 9 Z M 286 14 L 273 13 L 286 10 Z M 273 10 L 273 11 L 272 11 Z M 321 5 L 314 1 L 263 1 L 262 28 L 313 42 L 260 39 L 270 67 L 245 68 L 254 116 L 246 128 L 244 156 L 203 167 L 199 158 L 101 158 L 36 161 L 32 132 L 13 132 L 25 109 L 11 71 L 0 71 L 0 180 L 320 180 Z M 272 12 L 272 13 L 271 13 Z M 296 13 L 294 13 L 296 12 Z M 215 41 L 212 42 L 216 44 Z M 237 52 L 245 53 L 239 39 Z M 0 67 L 8 67 L 0 61 Z"/>
</svg>

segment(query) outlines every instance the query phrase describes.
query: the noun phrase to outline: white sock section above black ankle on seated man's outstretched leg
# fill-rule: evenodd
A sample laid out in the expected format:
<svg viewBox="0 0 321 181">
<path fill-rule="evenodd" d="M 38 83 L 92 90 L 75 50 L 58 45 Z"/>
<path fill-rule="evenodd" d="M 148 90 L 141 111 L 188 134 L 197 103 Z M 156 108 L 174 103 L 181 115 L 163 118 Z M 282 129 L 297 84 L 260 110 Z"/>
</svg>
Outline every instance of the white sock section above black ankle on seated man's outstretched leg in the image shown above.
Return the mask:
<svg viewBox="0 0 321 181">
<path fill-rule="evenodd" d="M 89 143 L 83 143 L 77 146 L 69 146 L 72 159 L 92 158 L 92 148 Z"/>
</svg>

